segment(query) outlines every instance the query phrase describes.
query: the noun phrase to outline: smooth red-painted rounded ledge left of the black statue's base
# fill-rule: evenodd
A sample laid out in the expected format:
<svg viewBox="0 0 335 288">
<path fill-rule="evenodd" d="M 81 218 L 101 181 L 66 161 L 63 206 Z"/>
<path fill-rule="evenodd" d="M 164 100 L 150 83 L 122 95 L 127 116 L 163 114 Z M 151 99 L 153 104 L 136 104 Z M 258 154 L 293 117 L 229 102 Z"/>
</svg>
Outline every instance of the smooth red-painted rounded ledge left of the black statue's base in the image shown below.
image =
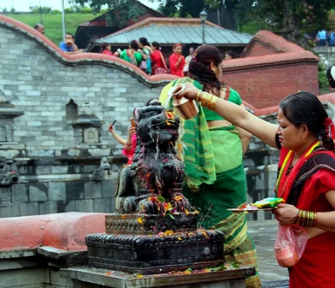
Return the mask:
<svg viewBox="0 0 335 288">
<path fill-rule="evenodd" d="M 104 213 L 68 212 L 2 218 L 0 251 L 50 246 L 61 250 L 86 250 L 85 235 L 105 232 Z"/>
</svg>

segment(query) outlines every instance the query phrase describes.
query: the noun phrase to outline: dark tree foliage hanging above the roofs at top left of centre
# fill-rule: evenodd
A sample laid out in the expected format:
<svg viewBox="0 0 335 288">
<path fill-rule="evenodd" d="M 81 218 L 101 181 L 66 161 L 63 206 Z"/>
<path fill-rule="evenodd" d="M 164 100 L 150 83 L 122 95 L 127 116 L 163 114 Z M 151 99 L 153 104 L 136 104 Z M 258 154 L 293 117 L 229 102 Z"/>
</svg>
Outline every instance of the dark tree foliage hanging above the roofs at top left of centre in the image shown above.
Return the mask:
<svg viewBox="0 0 335 288">
<path fill-rule="evenodd" d="M 82 7 L 89 5 L 95 13 L 101 12 L 105 6 L 106 21 L 109 26 L 123 28 L 129 20 L 137 21 L 143 14 L 143 8 L 134 0 L 72 0 L 71 3 L 80 4 Z"/>
</svg>

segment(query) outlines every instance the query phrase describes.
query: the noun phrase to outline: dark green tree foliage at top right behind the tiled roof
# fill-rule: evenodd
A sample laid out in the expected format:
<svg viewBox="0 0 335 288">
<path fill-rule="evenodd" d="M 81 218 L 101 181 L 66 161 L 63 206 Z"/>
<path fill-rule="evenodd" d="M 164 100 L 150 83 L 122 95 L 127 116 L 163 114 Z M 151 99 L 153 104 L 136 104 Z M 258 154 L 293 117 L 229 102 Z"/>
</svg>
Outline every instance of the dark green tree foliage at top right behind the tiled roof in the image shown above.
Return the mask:
<svg viewBox="0 0 335 288">
<path fill-rule="evenodd" d="M 205 0 L 211 8 L 231 6 L 239 27 L 250 22 L 303 44 L 303 34 L 326 28 L 334 0 Z"/>
</svg>

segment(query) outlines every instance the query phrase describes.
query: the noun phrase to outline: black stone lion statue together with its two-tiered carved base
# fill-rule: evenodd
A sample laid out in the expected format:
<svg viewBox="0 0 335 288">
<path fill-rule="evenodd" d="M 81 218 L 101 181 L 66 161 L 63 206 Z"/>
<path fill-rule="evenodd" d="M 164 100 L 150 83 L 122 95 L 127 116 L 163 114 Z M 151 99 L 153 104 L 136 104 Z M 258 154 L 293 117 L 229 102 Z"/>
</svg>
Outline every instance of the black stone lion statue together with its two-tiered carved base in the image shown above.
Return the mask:
<svg viewBox="0 0 335 288">
<path fill-rule="evenodd" d="M 178 116 L 154 101 L 136 108 L 134 118 L 135 156 L 117 174 L 116 213 L 105 216 L 106 233 L 85 238 L 89 265 L 144 274 L 221 265 L 223 233 L 197 229 L 197 213 L 181 193 Z"/>
</svg>

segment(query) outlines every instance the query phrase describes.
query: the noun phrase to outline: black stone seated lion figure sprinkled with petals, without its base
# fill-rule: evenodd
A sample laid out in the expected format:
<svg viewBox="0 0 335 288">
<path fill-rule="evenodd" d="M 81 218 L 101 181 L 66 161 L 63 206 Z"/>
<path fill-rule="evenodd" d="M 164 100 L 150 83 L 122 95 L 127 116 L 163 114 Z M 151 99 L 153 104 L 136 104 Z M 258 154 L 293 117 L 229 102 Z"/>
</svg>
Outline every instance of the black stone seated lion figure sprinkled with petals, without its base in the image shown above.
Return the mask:
<svg viewBox="0 0 335 288">
<path fill-rule="evenodd" d="M 134 111 L 137 149 L 130 166 L 117 175 L 117 213 L 164 215 L 190 211 L 182 195 L 184 165 L 174 149 L 178 139 L 179 117 L 157 100 Z"/>
</svg>

